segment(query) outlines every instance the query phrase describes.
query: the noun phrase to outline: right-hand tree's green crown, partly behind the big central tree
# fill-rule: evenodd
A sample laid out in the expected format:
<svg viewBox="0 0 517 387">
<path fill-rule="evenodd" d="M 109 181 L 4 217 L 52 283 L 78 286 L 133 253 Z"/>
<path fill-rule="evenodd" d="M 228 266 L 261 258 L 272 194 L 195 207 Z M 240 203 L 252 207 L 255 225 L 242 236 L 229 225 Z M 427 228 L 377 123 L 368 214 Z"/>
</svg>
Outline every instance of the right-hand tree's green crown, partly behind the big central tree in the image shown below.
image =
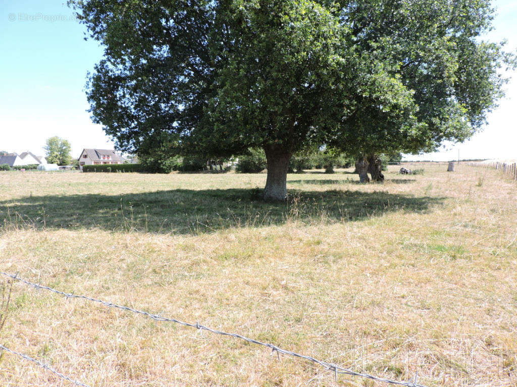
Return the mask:
<svg viewBox="0 0 517 387">
<path fill-rule="evenodd" d="M 417 124 L 361 96 L 341 146 L 352 154 L 431 152 L 444 140 L 464 141 L 480 130 L 503 96 L 501 67 L 515 65 L 503 44 L 481 40 L 491 28 L 490 1 L 342 3 L 361 50 L 390 63 L 390 76 L 413 92 Z"/>
</svg>

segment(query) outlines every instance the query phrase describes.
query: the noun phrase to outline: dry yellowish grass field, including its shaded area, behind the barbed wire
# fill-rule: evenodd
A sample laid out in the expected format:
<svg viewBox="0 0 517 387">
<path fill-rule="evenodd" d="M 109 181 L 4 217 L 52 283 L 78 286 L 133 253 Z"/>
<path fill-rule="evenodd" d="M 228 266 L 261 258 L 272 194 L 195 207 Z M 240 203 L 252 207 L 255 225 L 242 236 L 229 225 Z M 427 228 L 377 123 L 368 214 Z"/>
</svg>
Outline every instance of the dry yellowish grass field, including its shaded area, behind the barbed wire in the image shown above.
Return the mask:
<svg viewBox="0 0 517 387">
<path fill-rule="evenodd" d="M 377 376 L 517 385 L 517 184 L 399 168 L 290 174 L 288 203 L 265 174 L 0 172 L 0 269 Z M 386 385 L 21 283 L 0 343 L 96 387 Z M 0 385 L 71 384 L 4 353 Z"/>
</svg>

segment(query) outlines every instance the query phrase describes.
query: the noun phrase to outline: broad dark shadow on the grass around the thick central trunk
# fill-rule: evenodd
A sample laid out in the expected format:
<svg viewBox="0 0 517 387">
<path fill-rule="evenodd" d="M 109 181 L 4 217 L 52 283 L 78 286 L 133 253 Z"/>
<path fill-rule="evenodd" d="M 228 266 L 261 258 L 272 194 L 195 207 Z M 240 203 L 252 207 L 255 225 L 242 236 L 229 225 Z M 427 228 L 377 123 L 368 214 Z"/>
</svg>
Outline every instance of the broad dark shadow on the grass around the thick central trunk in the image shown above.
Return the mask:
<svg viewBox="0 0 517 387">
<path fill-rule="evenodd" d="M 0 202 L 1 229 L 103 229 L 204 233 L 288 220 L 346 222 L 403 211 L 425 213 L 444 198 L 386 192 L 290 190 L 287 202 L 262 200 L 260 189 L 175 189 L 124 195 L 32 196 Z"/>
</svg>

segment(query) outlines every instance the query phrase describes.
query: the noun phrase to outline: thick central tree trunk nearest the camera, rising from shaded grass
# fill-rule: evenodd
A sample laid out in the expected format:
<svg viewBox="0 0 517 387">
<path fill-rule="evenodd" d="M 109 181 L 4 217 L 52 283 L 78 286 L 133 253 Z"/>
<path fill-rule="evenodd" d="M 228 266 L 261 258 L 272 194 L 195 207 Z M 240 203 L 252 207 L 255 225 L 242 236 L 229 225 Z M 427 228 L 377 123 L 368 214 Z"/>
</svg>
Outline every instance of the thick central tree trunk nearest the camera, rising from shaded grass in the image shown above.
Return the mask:
<svg viewBox="0 0 517 387">
<path fill-rule="evenodd" d="M 265 146 L 267 159 L 267 180 L 264 188 L 265 200 L 287 199 L 287 170 L 291 153 L 273 146 Z"/>
</svg>

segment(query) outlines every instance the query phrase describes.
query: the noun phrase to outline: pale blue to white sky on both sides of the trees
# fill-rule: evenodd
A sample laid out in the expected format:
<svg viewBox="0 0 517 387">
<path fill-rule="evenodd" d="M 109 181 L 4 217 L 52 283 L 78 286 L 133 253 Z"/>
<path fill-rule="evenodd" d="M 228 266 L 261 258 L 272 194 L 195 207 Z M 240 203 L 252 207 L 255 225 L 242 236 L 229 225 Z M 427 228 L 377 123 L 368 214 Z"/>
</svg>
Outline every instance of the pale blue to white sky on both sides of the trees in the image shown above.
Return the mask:
<svg viewBox="0 0 517 387">
<path fill-rule="evenodd" d="M 113 143 L 89 118 L 86 72 L 102 49 L 85 41 L 84 27 L 66 1 L 0 0 L 0 150 L 43 154 L 45 139 L 67 138 L 74 156 L 83 148 Z M 498 17 L 489 38 L 506 38 L 517 50 L 517 0 L 496 0 Z M 517 74 L 507 99 L 489 117 L 482 133 L 445 150 L 410 159 L 517 158 Z"/>
</svg>

